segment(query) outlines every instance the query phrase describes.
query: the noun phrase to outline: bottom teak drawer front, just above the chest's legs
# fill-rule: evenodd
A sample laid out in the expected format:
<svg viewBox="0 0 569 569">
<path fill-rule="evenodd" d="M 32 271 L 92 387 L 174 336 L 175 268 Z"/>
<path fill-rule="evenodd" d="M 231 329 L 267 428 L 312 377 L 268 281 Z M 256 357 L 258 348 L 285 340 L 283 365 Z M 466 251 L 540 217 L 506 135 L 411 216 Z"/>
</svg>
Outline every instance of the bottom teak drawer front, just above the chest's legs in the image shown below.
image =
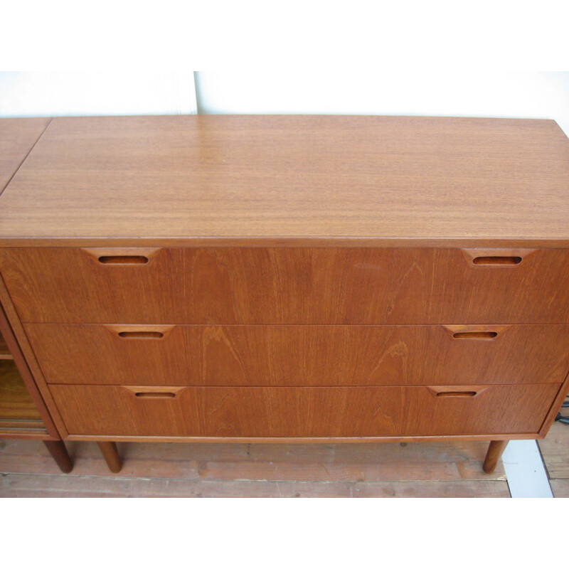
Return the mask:
<svg viewBox="0 0 569 569">
<path fill-rule="evenodd" d="M 70 435 L 389 437 L 536 433 L 559 385 L 50 385 Z"/>
</svg>

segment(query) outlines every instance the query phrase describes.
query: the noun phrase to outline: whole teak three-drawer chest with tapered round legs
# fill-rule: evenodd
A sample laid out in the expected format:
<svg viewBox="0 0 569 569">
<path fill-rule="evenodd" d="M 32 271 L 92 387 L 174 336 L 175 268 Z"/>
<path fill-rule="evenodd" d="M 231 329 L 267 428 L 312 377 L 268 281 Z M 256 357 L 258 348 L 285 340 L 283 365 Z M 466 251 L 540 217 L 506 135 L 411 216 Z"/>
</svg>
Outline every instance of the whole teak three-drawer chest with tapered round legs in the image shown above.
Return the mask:
<svg viewBox="0 0 569 569">
<path fill-rule="evenodd" d="M 0 300 L 64 440 L 116 468 L 117 440 L 469 437 L 491 472 L 546 435 L 569 388 L 555 122 L 46 124 L 2 181 Z"/>
</svg>

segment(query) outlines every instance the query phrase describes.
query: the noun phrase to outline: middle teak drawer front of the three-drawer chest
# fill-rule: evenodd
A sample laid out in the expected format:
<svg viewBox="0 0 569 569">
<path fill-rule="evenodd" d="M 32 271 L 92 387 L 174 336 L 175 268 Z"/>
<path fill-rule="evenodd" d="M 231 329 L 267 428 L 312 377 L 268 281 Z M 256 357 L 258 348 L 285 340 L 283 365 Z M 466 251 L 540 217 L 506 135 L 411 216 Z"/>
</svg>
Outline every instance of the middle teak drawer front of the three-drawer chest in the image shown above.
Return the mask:
<svg viewBox="0 0 569 569">
<path fill-rule="evenodd" d="M 25 328 L 48 383 L 561 383 L 569 371 L 569 325 L 563 324 Z"/>
</svg>

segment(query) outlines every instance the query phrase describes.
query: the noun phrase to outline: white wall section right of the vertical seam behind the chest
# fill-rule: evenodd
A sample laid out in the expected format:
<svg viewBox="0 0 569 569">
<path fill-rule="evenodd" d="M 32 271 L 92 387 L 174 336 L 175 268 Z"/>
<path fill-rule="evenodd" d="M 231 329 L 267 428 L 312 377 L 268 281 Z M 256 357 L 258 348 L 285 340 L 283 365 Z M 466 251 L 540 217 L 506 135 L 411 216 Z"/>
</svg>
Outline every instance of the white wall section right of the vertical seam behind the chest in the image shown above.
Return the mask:
<svg viewBox="0 0 569 569">
<path fill-rule="evenodd" d="M 196 73 L 206 113 L 553 118 L 569 132 L 569 73 Z"/>
</svg>

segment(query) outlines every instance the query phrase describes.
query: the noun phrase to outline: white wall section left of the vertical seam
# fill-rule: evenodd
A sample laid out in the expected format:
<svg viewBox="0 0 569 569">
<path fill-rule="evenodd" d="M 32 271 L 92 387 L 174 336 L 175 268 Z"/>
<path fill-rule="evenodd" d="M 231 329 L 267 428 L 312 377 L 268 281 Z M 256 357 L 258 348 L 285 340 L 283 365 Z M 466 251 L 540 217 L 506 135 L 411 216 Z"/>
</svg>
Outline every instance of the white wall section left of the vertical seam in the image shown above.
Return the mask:
<svg viewBox="0 0 569 569">
<path fill-rule="evenodd" d="M 195 113 L 191 71 L 0 73 L 0 117 Z"/>
</svg>

